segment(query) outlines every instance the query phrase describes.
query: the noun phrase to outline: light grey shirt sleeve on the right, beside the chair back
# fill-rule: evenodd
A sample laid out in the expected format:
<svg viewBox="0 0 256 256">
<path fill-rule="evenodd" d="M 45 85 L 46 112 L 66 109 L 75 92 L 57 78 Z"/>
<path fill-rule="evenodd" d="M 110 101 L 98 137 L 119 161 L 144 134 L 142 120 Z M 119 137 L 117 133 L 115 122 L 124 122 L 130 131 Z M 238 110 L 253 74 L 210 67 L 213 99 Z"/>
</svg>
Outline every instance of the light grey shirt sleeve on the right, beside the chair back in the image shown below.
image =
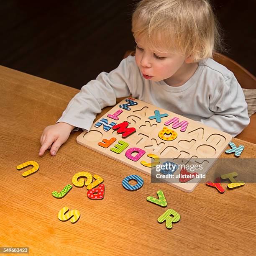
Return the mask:
<svg viewBox="0 0 256 256">
<path fill-rule="evenodd" d="M 210 100 L 210 118 L 201 119 L 205 125 L 217 128 L 235 137 L 250 123 L 243 90 L 233 75 L 225 80 L 220 91 L 216 90 Z"/>
</svg>

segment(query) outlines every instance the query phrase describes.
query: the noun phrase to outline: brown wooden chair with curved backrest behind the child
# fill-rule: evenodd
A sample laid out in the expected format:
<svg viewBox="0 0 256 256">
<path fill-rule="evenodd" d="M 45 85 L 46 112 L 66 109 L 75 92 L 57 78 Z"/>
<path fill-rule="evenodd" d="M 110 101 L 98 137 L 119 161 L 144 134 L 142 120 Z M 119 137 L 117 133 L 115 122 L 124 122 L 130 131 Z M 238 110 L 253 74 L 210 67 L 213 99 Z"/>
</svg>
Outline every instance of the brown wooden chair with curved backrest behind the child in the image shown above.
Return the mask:
<svg viewBox="0 0 256 256">
<path fill-rule="evenodd" d="M 135 51 L 126 51 L 123 59 L 129 55 L 135 56 Z M 242 88 L 256 89 L 256 77 L 239 65 L 236 61 L 219 53 L 215 53 L 213 55 L 213 59 L 232 71 Z M 250 119 L 251 121 L 249 125 L 240 134 L 238 134 L 236 138 L 256 144 L 256 113 L 251 115 Z"/>
</svg>

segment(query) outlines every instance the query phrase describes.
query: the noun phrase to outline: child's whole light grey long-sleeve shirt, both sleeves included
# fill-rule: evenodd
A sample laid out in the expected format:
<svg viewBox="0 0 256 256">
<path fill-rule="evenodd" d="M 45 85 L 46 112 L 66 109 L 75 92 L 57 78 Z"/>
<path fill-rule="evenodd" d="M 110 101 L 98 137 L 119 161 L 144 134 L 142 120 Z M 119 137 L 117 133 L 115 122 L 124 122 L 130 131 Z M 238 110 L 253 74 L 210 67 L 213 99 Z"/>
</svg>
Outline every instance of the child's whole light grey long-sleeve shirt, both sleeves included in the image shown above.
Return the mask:
<svg viewBox="0 0 256 256">
<path fill-rule="evenodd" d="M 116 98 L 130 94 L 233 137 L 250 123 L 247 103 L 236 77 L 213 59 L 199 62 L 187 82 L 173 87 L 163 80 L 144 79 L 133 56 L 123 59 L 110 73 L 101 72 L 95 80 L 84 85 L 56 123 L 65 122 L 90 131 L 102 108 L 115 105 Z"/>
</svg>

